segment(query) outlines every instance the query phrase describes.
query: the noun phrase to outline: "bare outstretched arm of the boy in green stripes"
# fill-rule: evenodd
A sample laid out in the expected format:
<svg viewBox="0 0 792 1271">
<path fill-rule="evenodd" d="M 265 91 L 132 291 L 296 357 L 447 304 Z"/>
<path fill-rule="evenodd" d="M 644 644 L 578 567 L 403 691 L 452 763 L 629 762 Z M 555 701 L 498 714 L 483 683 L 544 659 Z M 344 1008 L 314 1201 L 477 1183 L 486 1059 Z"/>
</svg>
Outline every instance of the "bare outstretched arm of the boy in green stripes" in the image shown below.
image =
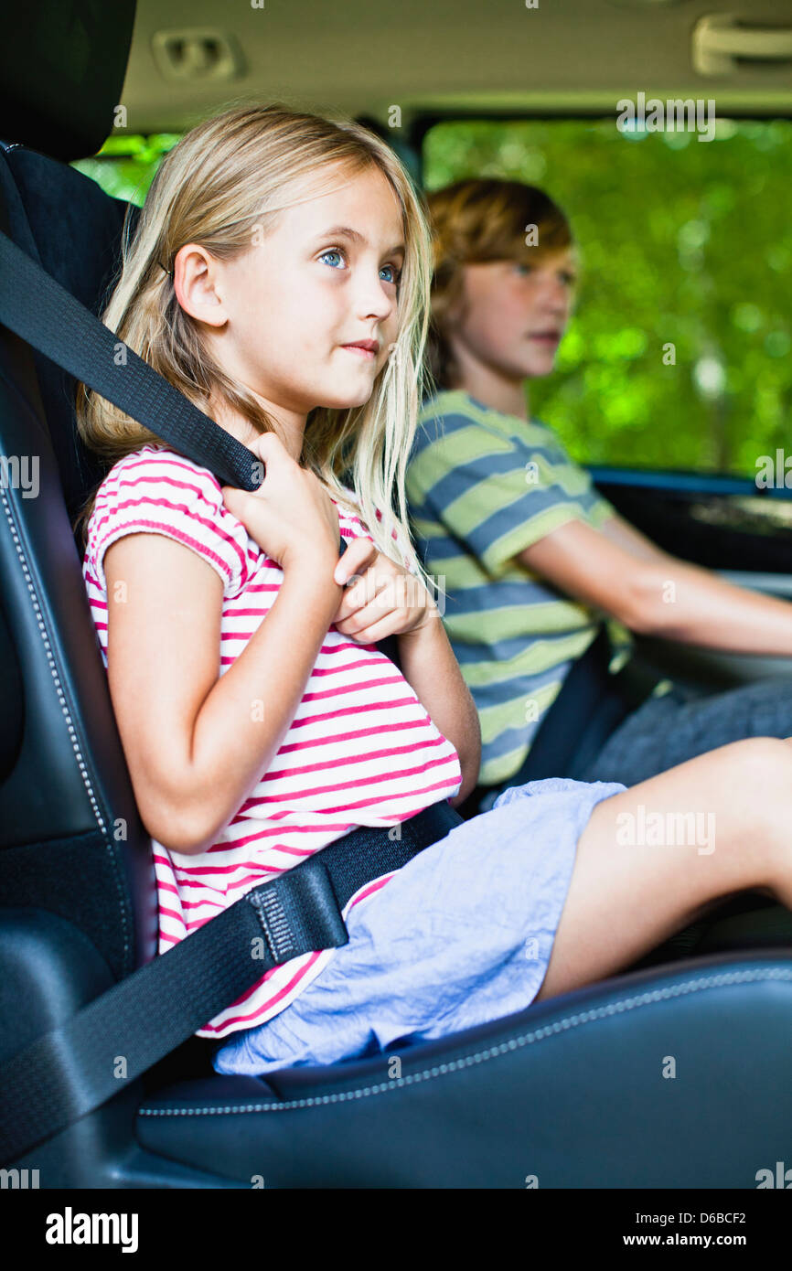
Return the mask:
<svg viewBox="0 0 792 1271">
<path fill-rule="evenodd" d="M 792 656 L 792 605 L 786 600 L 725 582 L 653 544 L 650 553 L 646 544 L 648 540 L 634 531 L 628 549 L 590 525 L 571 521 L 516 559 L 642 636 L 740 653 Z"/>
</svg>

